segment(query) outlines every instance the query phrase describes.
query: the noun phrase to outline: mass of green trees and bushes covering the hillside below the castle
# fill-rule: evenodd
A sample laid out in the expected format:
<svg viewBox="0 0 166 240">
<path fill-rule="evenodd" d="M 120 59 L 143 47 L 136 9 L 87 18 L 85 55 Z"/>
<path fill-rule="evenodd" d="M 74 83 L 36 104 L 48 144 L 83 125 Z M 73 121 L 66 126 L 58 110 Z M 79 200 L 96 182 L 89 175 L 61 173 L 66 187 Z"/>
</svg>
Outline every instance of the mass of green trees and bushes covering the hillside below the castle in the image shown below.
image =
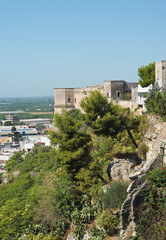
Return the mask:
<svg viewBox="0 0 166 240">
<path fill-rule="evenodd" d="M 81 240 L 87 229 L 92 240 L 118 234 L 127 184 L 110 183 L 106 169 L 114 156 L 136 153 L 144 116 L 108 103 L 98 92 L 82 107 L 84 114 L 55 114 L 52 147 L 36 145 L 7 162 L 7 183 L 0 185 L 0 239 L 62 240 L 72 232 Z"/>
</svg>

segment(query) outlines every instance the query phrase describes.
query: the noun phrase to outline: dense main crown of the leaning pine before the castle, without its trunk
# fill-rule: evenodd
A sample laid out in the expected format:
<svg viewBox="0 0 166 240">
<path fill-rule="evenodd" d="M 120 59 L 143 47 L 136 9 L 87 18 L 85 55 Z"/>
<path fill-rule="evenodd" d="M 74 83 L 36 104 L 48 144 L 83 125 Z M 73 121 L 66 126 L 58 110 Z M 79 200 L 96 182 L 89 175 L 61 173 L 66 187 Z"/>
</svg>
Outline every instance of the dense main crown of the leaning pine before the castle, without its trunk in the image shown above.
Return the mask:
<svg viewBox="0 0 166 240">
<path fill-rule="evenodd" d="M 118 133 L 121 119 L 118 106 L 110 104 L 100 92 L 94 91 L 80 103 L 86 114 L 83 115 L 85 123 L 92 127 L 95 134 L 114 136 Z"/>
</svg>

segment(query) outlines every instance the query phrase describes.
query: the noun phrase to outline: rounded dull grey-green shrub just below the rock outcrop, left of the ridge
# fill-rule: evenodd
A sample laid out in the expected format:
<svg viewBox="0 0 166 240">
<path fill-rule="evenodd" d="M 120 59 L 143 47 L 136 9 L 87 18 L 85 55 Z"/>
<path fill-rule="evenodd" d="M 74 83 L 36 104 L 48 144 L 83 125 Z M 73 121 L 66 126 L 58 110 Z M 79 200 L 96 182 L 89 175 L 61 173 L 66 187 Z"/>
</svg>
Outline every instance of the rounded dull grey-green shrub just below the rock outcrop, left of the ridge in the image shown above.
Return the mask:
<svg viewBox="0 0 166 240">
<path fill-rule="evenodd" d="M 104 208 L 120 208 L 127 197 L 128 184 L 121 181 L 114 181 L 103 194 L 102 201 Z"/>
</svg>

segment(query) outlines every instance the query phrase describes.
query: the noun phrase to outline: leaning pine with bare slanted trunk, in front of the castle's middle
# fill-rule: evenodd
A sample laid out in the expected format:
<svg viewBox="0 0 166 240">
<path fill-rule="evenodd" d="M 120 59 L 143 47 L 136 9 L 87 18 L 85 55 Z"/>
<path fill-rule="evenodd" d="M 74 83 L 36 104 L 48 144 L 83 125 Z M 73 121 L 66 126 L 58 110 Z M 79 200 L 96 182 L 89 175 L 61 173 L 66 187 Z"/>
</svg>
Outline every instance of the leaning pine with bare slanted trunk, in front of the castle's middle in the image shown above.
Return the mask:
<svg viewBox="0 0 166 240">
<path fill-rule="evenodd" d="M 108 103 L 107 98 L 99 91 L 94 91 L 80 103 L 85 114 L 83 119 L 97 135 L 116 137 L 118 133 L 126 130 L 132 143 L 137 148 L 131 130 L 139 125 L 139 118 L 130 113 L 130 109 Z"/>
</svg>

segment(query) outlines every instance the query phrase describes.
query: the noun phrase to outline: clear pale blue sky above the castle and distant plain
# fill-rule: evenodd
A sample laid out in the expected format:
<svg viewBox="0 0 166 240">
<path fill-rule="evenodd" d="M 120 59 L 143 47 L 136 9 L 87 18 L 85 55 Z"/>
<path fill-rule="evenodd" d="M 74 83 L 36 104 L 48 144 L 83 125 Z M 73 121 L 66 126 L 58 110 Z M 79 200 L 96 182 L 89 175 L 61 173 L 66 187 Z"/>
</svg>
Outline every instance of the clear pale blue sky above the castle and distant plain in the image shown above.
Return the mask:
<svg viewBox="0 0 166 240">
<path fill-rule="evenodd" d="M 137 82 L 166 59 L 165 0 L 0 0 L 0 97 Z"/>
</svg>

